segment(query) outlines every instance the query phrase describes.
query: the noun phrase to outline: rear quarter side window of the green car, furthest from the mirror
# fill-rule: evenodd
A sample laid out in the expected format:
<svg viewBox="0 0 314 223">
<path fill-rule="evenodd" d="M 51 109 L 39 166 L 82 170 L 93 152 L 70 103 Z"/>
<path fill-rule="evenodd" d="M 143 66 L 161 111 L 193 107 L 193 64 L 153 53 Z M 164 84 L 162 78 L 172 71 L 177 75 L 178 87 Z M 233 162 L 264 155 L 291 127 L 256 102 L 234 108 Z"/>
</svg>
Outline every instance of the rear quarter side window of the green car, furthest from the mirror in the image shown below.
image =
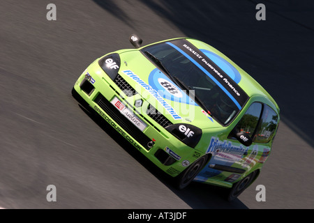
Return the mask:
<svg viewBox="0 0 314 223">
<path fill-rule="evenodd" d="M 260 144 L 268 143 L 275 134 L 278 124 L 278 114 L 271 107 L 264 105 L 260 126 L 257 129 L 254 142 Z"/>
</svg>

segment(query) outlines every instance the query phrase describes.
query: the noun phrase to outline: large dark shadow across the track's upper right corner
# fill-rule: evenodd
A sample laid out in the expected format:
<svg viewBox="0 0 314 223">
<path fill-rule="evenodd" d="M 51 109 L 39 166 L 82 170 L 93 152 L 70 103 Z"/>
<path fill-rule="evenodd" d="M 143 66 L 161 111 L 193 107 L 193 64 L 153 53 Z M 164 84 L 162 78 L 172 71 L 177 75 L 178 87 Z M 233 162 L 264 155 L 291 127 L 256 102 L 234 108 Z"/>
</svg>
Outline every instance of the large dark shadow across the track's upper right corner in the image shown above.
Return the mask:
<svg viewBox="0 0 314 223">
<path fill-rule="evenodd" d="M 93 1 L 144 30 L 116 1 Z M 257 3 L 266 6 L 264 21 L 255 18 Z M 282 120 L 314 148 L 314 1 L 133 1 L 137 4 L 230 57 L 273 96 Z M 144 20 L 149 15 L 140 16 Z"/>
</svg>

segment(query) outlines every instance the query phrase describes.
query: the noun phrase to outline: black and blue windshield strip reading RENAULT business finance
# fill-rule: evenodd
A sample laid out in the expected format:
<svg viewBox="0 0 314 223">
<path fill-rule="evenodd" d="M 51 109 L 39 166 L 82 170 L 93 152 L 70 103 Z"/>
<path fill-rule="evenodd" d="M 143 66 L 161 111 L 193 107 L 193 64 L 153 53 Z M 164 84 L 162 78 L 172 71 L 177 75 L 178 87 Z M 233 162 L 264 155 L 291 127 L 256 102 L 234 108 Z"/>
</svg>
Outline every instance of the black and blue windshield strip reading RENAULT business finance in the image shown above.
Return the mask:
<svg viewBox="0 0 314 223">
<path fill-rule="evenodd" d="M 174 47 L 174 49 L 177 49 L 206 73 L 223 91 L 225 91 L 239 109 L 246 103 L 248 95 L 233 81 L 233 79 L 191 43 L 181 39 L 174 40 L 171 43 L 168 42 L 167 44 Z"/>
</svg>

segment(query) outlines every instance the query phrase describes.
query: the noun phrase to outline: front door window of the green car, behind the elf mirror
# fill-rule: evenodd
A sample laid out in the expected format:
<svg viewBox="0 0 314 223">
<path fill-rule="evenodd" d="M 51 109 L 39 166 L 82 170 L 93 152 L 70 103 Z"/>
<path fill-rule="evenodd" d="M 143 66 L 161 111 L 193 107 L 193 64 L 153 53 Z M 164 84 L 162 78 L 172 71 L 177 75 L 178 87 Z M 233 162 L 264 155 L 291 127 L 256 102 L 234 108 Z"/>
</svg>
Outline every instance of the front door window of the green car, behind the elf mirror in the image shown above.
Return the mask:
<svg viewBox="0 0 314 223">
<path fill-rule="evenodd" d="M 235 132 L 246 132 L 250 137 L 253 137 L 261 112 L 262 104 L 260 102 L 254 102 L 234 128 Z"/>
</svg>

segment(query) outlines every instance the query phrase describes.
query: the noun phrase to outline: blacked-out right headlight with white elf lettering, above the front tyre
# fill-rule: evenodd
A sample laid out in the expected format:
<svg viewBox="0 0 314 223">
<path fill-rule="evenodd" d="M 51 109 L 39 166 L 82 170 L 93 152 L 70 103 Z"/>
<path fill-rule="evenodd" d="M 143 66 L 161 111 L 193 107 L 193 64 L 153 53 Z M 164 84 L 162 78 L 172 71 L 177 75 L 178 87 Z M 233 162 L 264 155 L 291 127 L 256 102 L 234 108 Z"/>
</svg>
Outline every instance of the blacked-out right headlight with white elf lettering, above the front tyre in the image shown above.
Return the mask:
<svg viewBox="0 0 314 223">
<path fill-rule="evenodd" d="M 192 148 L 195 148 L 202 137 L 202 130 L 200 128 L 186 123 L 169 125 L 165 129 Z"/>
</svg>

